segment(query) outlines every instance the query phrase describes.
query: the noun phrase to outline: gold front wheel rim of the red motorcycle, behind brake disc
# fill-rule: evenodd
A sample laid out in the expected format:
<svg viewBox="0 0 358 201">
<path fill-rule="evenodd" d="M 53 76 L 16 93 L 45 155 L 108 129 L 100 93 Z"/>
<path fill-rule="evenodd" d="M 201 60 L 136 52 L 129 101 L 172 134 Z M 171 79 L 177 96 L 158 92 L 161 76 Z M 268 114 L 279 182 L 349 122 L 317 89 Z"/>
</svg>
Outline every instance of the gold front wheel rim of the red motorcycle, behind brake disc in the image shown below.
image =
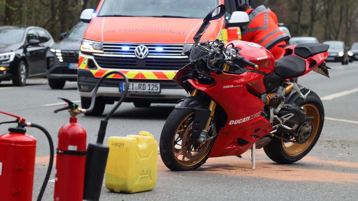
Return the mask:
<svg viewBox="0 0 358 201">
<path fill-rule="evenodd" d="M 208 140 L 207 142 L 205 142 L 200 146 L 200 149 L 206 148 L 204 152 L 195 151 L 194 148 L 193 152 L 196 152 L 196 154 L 192 156 L 196 156 L 196 155 L 198 156 L 193 159 L 189 159 L 185 157 L 182 151 L 182 138 L 184 136 L 185 131 L 187 131 L 187 129 L 191 129 L 189 128 L 189 125 L 190 123 L 192 123 L 193 118 L 194 118 L 194 112 L 190 113 L 187 117 L 183 119 L 183 121 L 179 124 L 178 128 L 176 128 L 176 133 L 174 134 L 173 143 L 172 143 L 172 151 L 175 161 L 185 167 L 194 166 L 198 164 L 200 161 L 202 161 L 208 155 L 210 148 L 211 146 L 213 146 L 214 143 L 214 139 Z M 191 131 L 189 132 L 191 136 Z M 203 146 L 209 146 L 209 147 L 203 147 Z"/>
</svg>

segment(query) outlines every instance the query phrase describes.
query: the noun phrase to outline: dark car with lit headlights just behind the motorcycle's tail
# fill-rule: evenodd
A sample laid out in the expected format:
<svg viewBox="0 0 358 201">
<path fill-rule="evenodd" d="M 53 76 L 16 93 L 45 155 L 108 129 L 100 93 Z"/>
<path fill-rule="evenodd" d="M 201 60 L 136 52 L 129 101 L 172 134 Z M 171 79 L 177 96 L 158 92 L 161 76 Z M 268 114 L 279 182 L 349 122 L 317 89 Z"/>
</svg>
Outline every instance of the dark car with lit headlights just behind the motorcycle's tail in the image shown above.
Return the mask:
<svg viewBox="0 0 358 201">
<path fill-rule="evenodd" d="M 326 62 L 342 62 L 343 65 L 348 64 L 348 48 L 343 41 L 324 41 L 323 43 L 329 45 Z"/>
</svg>

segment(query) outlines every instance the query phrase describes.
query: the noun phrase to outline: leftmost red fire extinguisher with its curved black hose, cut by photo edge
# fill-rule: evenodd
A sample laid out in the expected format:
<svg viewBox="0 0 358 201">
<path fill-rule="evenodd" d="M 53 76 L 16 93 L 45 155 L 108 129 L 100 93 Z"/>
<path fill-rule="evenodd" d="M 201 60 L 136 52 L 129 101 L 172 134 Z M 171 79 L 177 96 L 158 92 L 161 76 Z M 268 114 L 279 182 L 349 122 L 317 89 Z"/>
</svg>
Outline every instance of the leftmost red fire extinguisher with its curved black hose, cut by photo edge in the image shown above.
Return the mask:
<svg viewBox="0 0 358 201">
<path fill-rule="evenodd" d="M 16 127 L 9 128 L 10 133 L 0 136 L 0 196 L 1 200 L 6 201 L 31 201 L 32 188 L 34 180 L 36 139 L 26 134 L 25 127 L 34 127 L 45 133 L 50 144 L 50 161 L 40 190 L 38 201 L 41 200 L 47 181 L 49 180 L 52 170 L 54 157 L 53 142 L 50 134 L 43 127 L 26 123 L 24 118 L 14 114 L 0 111 L 11 117 L 15 117 L 16 121 L 1 122 L 17 123 Z"/>
</svg>

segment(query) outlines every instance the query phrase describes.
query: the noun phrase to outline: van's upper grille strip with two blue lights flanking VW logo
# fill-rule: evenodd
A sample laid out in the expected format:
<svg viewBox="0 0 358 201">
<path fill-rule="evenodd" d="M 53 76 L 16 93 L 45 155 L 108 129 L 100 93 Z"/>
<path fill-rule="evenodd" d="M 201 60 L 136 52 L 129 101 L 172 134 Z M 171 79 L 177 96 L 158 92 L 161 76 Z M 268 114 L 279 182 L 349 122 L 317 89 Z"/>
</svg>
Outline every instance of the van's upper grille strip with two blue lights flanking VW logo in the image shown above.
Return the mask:
<svg viewBox="0 0 358 201">
<path fill-rule="evenodd" d="M 133 43 L 103 43 L 104 54 L 134 55 L 138 45 L 145 45 L 149 49 L 148 55 L 182 56 L 184 44 L 133 44 Z M 163 50 L 156 50 L 163 48 Z"/>
</svg>

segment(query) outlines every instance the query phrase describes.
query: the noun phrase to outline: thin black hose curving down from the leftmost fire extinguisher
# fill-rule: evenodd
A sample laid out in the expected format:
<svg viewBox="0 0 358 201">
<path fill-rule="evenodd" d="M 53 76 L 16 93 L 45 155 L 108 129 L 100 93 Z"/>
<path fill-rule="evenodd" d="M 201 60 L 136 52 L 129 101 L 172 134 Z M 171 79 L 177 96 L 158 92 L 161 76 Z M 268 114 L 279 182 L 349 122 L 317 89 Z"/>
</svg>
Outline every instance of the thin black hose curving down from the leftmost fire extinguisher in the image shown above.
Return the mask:
<svg viewBox="0 0 358 201">
<path fill-rule="evenodd" d="M 27 123 L 26 124 L 27 127 L 33 127 L 33 128 L 38 128 L 40 129 L 43 133 L 45 133 L 47 139 L 48 139 L 48 143 L 50 144 L 50 161 L 48 163 L 48 168 L 47 168 L 47 173 L 45 176 L 45 180 L 42 184 L 39 196 L 37 197 L 37 201 L 40 201 L 42 199 L 42 196 L 45 192 L 46 186 L 47 186 L 47 182 L 50 178 L 51 175 L 51 171 L 52 171 L 52 165 L 53 165 L 53 158 L 54 158 L 54 147 L 53 147 L 53 141 L 52 138 L 50 136 L 50 133 L 42 126 L 38 125 L 38 124 L 34 124 L 34 123 Z"/>
</svg>

